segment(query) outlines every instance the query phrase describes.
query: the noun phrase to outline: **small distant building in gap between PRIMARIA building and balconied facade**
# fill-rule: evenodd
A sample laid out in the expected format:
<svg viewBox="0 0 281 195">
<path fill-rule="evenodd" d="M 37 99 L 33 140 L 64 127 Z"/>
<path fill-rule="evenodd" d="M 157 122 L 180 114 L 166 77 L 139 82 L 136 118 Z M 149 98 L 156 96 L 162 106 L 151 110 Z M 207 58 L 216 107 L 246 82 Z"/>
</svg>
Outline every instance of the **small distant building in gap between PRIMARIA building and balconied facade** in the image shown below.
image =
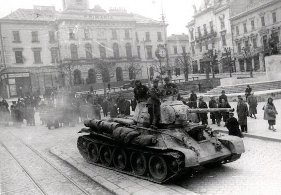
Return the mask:
<svg viewBox="0 0 281 195">
<path fill-rule="evenodd" d="M 170 66 L 174 69 L 176 75 L 183 74 L 183 68 L 178 58 L 182 58 L 182 54 L 189 52 L 188 35 L 184 33 L 182 35 L 172 34 L 168 37 L 168 48 Z"/>
</svg>

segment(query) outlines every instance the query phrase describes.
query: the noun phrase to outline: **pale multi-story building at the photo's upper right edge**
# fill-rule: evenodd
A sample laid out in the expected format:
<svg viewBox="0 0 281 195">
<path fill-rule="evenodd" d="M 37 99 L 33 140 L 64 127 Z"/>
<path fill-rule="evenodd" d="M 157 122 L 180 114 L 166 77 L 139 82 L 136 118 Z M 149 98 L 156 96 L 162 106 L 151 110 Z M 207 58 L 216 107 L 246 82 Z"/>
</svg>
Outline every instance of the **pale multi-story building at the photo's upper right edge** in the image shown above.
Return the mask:
<svg viewBox="0 0 281 195">
<path fill-rule="evenodd" d="M 241 7 L 243 5 L 243 7 Z M 269 39 L 281 40 L 280 0 L 235 0 L 231 2 L 234 51 L 237 71 L 264 71 L 264 57 L 269 55 Z M 271 35 L 273 38 L 271 38 Z M 281 49 L 281 45 L 277 44 Z M 250 51 L 252 59 L 245 58 Z"/>
</svg>

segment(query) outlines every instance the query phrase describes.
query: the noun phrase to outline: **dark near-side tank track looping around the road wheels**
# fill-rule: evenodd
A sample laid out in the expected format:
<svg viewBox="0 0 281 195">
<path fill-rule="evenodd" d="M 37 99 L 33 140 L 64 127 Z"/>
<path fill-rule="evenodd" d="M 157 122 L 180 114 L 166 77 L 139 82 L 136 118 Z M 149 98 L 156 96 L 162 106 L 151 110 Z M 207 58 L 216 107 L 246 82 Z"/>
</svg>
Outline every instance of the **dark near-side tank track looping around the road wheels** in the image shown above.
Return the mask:
<svg viewBox="0 0 281 195">
<path fill-rule="evenodd" d="M 91 157 L 88 154 L 88 146 L 90 143 L 96 144 L 98 146 L 99 150 L 100 150 L 101 145 L 109 146 L 111 148 L 111 150 L 113 150 L 113 148 L 121 148 L 125 151 L 127 159 L 130 159 L 130 155 L 134 151 L 144 154 L 146 156 L 146 164 L 147 164 L 146 171 L 145 171 L 146 173 L 144 175 L 135 174 L 131 168 L 131 164 L 130 164 L 129 160 L 127 163 L 127 169 L 125 169 L 125 170 L 119 170 L 119 169 L 115 168 L 113 163 L 111 163 L 110 166 L 105 166 L 104 164 L 101 163 L 100 156 L 99 156 L 98 162 L 93 162 L 93 160 L 91 160 Z M 113 140 L 111 138 L 108 138 L 105 136 L 100 136 L 99 134 L 95 134 L 95 138 L 93 138 L 93 135 L 80 136 L 77 141 L 77 147 L 79 149 L 80 154 L 91 164 L 98 165 L 98 166 L 101 166 L 104 168 L 108 168 L 108 169 L 111 169 L 111 170 L 114 170 L 114 171 L 117 171 L 120 173 L 124 173 L 124 174 L 130 175 L 130 176 L 140 178 L 140 179 L 155 182 L 158 184 L 162 184 L 171 179 L 176 179 L 179 176 L 188 172 L 188 170 L 189 170 L 184 167 L 184 165 L 185 165 L 184 154 L 181 153 L 180 151 L 173 150 L 173 149 L 155 149 L 155 148 L 151 148 L 151 147 L 142 147 L 142 146 L 137 146 L 137 145 L 124 144 L 122 142 Z M 167 171 L 168 171 L 167 177 L 163 181 L 155 180 L 152 177 L 152 175 L 150 174 L 149 163 L 148 163 L 148 161 L 149 161 L 148 159 L 152 155 L 161 156 L 161 157 L 163 157 L 163 159 L 165 159 L 165 161 L 171 160 L 171 159 L 175 160 L 176 164 L 177 164 L 177 170 L 172 171 L 167 163 Z"/>
</svg>

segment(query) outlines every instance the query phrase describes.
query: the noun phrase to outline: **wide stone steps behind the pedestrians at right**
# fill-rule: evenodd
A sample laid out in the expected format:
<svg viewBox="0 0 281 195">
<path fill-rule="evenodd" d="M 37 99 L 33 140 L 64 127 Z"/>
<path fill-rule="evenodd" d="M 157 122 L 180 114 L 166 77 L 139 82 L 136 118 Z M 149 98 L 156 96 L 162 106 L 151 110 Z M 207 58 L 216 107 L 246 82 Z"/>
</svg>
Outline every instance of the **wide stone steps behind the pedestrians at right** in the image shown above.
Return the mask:
<svg viewBox="0 0 281 195">
<path fill-rule="evenodd" d="M 268 82 L 257 82 L 257 83 L 245 83 L 239 85 L 230 85 L 230 86 L 219 86 L 216 87 L 205 95 L 220 95 L 222 90 L 225 91 L 225 94 L 238 94 L 238 93 L 245 93 L 247 85 L 250 85 L 253 92 L 258 91 L 269 91 L 269 90 L 278 90 L 281 89 L 281 80 L 280 81 L 268 81 Z"/>
</svg>

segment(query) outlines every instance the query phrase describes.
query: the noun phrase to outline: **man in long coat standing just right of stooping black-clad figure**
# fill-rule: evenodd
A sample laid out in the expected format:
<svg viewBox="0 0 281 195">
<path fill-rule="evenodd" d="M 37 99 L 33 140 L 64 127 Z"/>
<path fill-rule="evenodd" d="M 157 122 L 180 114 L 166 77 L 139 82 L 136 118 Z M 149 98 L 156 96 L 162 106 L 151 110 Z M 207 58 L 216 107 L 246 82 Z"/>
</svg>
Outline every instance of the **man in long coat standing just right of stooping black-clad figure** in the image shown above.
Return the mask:
<svg viewBox="0 0 281 195">
<path fill-rule="evenodd" d="M 243 98 L 238 99 L 236 111 L 237 111 L 238 121 L 241 127 L 241 131 L 248 133 L 247 116 L 249 116 L 249 109 L 247 104 L 243 102 Z"/>
</svg>

